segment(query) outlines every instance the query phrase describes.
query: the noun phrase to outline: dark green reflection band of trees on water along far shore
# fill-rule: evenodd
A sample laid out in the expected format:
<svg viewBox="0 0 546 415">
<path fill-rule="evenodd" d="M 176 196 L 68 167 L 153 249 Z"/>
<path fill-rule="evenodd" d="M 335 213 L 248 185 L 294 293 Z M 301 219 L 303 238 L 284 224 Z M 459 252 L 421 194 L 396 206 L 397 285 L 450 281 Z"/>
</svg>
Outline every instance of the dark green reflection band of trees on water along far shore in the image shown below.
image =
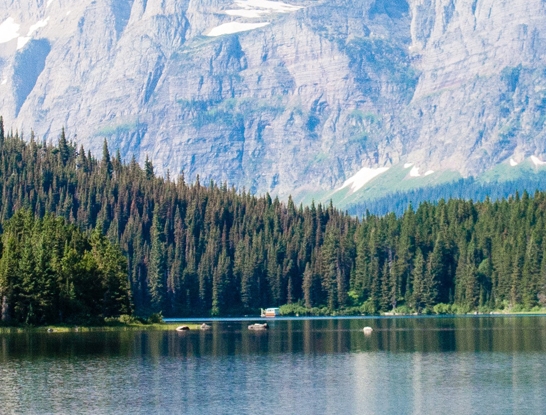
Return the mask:
<svg viewBox="0 0 546 415">
<path fill-rule="evenodd" d="M 365 336 L 362 328 L 373 324 Z M 546 318 L 442 318 L 273 321 L 269 331 L 215 322 L 207 331 L 79 332 L 0 335 L 0 359 L 171 356 L 546 351 Z"/>
</svg>

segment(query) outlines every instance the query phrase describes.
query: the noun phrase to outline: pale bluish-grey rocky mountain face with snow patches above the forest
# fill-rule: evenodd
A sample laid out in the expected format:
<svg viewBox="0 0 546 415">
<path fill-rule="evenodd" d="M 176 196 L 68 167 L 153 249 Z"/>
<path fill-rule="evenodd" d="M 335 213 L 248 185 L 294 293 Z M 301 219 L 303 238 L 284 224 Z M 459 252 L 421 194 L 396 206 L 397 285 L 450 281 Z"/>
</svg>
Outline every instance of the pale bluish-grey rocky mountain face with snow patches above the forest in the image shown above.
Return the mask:
<svg viewBox="0 0 546 415">
<path fill-rule="evenodd" d="M 544 160 L 545 51 L 543 0 L 0 0 L 0 114 L 257 193 L 468 176 Z"/>
</svg>

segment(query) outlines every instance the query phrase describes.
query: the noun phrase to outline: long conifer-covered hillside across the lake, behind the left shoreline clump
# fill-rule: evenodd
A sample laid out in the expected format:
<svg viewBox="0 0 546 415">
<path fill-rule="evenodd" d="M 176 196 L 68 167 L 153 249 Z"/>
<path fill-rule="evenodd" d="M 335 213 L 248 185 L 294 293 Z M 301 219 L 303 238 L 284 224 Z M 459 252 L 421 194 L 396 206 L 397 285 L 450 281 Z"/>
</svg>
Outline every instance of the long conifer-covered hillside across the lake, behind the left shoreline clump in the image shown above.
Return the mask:
<svg viewBox="0 0 546 415">
<path fill-rule="evenodd" d="M 0 220 L 20 208 L 104 232 L 127 257 L 135 313 L 526 308 L 546 300 L 546 195 L 421 204 L 358 220 L 225 185 L 156 177 L 104 145 L 0 135 Z M 4 247 L 5 249 L 5 247 Z M 447 310 L 437 306 L 436 311 Z"/>
</svg>

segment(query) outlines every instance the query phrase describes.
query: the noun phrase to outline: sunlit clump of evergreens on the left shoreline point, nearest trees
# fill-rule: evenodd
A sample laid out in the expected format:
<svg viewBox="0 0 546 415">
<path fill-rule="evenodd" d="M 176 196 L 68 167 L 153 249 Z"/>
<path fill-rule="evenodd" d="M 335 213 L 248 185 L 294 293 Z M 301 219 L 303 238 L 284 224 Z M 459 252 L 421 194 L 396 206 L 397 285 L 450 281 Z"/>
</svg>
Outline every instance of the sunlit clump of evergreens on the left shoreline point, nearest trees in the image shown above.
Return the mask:
<svg viewBox="0 0 546 415">
<path fill-rule="evenodd" d="M 86 236 L 47 214 L 18 211 L 4 223 L 1 322 L 93 322 L 130 313 L 127 261 L 98 230 Z"/>
</svg>

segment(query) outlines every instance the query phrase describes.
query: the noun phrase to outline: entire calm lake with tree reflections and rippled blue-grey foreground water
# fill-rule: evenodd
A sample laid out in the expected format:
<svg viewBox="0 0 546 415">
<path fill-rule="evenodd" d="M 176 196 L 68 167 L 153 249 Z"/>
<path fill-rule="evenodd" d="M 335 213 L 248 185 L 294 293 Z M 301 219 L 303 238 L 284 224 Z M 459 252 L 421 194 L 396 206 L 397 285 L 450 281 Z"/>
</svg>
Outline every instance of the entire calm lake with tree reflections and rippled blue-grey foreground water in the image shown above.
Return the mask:
<svg viewBox="0 0 546 415">
<path fill-rule="evenodd" d="M 546 316 L 248 324 L 0 334 L 0 413 L 546 413 Z"/>
</svg>

